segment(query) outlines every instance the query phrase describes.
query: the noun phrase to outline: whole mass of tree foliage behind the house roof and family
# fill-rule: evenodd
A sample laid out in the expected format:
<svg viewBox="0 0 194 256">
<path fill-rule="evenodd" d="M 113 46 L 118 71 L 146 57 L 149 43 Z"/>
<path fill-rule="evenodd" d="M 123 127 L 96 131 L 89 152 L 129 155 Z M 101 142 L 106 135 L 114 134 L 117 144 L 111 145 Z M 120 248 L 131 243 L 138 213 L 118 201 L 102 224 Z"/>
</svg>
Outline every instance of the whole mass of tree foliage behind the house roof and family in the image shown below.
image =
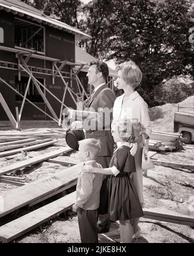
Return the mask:
<svg viewBox="0 0 194 256">
<path fill-rule="evenodd" d="M 32 1 L 91 35 L 79 44 L 92 56 L 135 61 L 144 74 L 138 91 L 149 106 L 159 103 L 155 91 L 164 79 L 194 76 L 194 43 L 188 40 L 194 27 L 193 0 L 93 0 L 87 5 L 80 0 Z"/>
</svg>

